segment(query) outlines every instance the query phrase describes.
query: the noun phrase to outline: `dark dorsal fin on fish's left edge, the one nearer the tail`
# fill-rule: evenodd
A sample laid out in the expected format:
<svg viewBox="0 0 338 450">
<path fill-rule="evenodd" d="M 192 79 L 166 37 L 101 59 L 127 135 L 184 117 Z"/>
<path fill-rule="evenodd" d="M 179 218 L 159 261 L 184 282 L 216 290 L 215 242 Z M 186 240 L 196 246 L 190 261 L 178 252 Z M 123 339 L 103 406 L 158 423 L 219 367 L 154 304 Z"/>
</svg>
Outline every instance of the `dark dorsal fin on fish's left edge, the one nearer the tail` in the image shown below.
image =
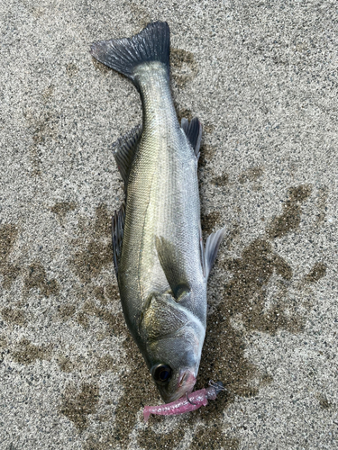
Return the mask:
<svg viewBox="0 0 338 450">
<path fill-rule="evenodd" d="M 137 144 L 142 135 L 142 125 L 137 125 L 131 131 L 117 139 L 113 144 L 114 158 L 123 178 L 124 191 L 127 190 L 129 173 L 135 156 Z"/>
</svg>

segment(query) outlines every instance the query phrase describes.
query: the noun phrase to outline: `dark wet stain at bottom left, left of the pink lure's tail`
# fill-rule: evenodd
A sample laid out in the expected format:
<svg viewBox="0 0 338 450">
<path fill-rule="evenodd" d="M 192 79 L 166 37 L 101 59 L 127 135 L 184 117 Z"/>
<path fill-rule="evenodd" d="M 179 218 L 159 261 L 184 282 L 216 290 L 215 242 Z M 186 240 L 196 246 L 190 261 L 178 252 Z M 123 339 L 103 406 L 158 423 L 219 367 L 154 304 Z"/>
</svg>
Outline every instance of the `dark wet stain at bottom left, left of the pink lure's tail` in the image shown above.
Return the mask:
<svg viewBox="0 0 338 450">
<path fill-rule="evenodd" d="M 83 383 L 81 392 L 69 386 L 62 395 L 60 413 L 71 420 L 78 431 L 84 431 L 88 426 L 88 415 L 96 412 L 98 399 L 96 384 Z"/>
</svg>

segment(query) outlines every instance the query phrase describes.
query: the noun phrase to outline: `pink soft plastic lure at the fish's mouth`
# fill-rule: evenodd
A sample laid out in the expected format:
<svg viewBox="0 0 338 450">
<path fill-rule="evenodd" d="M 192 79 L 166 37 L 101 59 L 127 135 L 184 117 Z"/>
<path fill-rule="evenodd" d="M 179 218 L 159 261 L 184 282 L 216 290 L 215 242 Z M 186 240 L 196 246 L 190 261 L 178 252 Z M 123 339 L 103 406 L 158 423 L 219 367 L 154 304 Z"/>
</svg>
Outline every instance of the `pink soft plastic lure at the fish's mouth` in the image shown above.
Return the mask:
<svg viewBox="0 0 338 450">
<path fill-rule="evenodd" d="M 177 401 L 159 406 L 145 406 L 143 410 L 144 421 L 146 422 L 151 414 L 160 416 L 173 416 L 184 412 L 198 410 L 201 406 L 206 406 L 208 400 L 215 400 L 218 393 L 224 391 L 222 382 L 209 382 L 209 387 L 191 392 L 186 397 L 181 397 Z"/>
</svg>

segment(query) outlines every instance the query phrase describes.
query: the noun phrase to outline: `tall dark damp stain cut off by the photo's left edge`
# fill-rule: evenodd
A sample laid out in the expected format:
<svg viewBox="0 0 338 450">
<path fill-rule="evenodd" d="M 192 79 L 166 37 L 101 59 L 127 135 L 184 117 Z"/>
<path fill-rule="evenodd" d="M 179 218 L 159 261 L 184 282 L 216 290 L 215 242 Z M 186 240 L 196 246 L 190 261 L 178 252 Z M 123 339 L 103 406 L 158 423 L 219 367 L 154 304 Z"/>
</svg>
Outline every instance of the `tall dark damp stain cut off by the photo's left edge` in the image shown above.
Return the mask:
<svg viewBox="0 0 338 450">
<path fill-rule="evenodd" d="M 18 235 L 17 227 L 12 223 L 0 226 L 0 274 L 3 276 L 3 286 L 9 289 L 20 273 L 20 267 L 9 263 L 9 257 Z"/>
</svg>

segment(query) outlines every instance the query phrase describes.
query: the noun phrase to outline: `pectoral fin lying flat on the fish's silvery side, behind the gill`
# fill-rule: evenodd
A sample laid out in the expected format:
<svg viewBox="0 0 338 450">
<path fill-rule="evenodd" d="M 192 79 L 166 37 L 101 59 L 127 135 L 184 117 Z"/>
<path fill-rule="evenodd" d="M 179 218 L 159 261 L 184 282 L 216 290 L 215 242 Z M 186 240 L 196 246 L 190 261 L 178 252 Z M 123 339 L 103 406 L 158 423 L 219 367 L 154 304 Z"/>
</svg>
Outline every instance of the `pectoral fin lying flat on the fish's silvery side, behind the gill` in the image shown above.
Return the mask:
<svg viewBox="0 0 338 450">
<path fill-rule="evenodd" d="M 179 302 L 182 296 L 190 291 L 187 275 L 182 264 L 179 250 L 168 239 L 156 237 L 156 249 L 164 275 L 166 275 L 170 289 Z"/>
</svg>

